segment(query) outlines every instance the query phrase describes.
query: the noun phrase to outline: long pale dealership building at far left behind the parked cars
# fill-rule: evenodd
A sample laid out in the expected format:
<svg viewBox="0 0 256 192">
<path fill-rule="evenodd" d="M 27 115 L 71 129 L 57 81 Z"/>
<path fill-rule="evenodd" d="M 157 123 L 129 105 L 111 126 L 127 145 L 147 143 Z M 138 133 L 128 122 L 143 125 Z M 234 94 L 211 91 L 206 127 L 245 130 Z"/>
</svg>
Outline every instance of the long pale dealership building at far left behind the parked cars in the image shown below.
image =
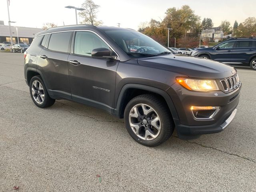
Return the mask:
<svg viewBox="0 0 256 192">
<path fill-rule="evenodd" d="M 29 27 L 15 27 L 11 26 L 12 28 L 12 41 L 14 43 L 25 42 L 31 44 L 34 40 L 35 35 L 38 32 L 43 31 L 40 28 L 29 28 Z M 18 32 L 18 35 L 17 35 Z M 0 43 L 8 41 L 11 42 L 10 38 L 10 29 L 8 25 L 4 25 L 4 21 L 0 21 Z"/>
</svg>

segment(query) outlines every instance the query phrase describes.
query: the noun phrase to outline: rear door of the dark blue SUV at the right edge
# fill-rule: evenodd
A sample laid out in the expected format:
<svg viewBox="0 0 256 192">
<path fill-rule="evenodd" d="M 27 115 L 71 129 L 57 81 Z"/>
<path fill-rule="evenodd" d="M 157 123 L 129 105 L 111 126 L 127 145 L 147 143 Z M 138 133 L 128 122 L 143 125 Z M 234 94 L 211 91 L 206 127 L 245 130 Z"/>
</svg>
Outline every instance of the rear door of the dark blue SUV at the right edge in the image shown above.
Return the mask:
<svg viewBox="0 0 256 192">
<path fill-rule="evenodd" d="M 230 62 L 233 64 L 248 64 L 255 52 L 256 47 L 254 40 L 237 40 L 232 50 Z"/>
</svg>

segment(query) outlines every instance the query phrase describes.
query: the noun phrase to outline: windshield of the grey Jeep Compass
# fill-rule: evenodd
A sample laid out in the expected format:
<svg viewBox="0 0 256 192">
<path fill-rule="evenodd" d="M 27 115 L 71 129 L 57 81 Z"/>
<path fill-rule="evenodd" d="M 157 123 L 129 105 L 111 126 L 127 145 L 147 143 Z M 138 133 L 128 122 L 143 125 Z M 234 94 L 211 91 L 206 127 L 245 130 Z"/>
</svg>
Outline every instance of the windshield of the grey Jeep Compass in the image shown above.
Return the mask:
<svg viewBox="0 0 256 192">
<path fill-rule="evenodd" d="M 158 54 L 171 53 L 170 50 L 140 32 L 130 30 L 105 30 L 105 32 L 129 55 L 155 56 Z"/>
</svg>

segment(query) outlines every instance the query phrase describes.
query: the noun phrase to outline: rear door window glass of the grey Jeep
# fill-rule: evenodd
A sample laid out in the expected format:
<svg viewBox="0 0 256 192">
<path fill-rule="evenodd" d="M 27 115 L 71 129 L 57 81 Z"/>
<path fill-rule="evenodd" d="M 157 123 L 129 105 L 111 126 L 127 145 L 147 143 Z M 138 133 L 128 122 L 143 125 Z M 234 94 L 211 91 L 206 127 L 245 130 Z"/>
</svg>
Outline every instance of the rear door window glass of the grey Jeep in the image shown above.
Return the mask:
<svg viewBox="0 0 256 192">
<path fill-rule="evenodd" d="M 72 32 L 53 33 L 50 37 L 48 49 L 59 52 L 68 52 Z"/>
</svg>

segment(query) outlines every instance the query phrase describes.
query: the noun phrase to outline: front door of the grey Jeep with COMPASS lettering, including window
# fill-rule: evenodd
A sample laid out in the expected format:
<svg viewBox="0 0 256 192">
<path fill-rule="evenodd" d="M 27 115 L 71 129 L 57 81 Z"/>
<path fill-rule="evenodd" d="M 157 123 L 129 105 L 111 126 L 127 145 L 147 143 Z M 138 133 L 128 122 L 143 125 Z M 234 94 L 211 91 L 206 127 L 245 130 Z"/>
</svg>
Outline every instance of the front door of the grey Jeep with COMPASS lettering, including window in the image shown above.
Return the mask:
<svg viewBox="0 0 256 192">
<path fill-rule="evenodd" d="M 72 99 L 106 110 L 114 107 L 118 60 L 92 58 L 95 48 L 111 48 L 94 32 L 78 31 L 68 57 Z"/>
</svg>

